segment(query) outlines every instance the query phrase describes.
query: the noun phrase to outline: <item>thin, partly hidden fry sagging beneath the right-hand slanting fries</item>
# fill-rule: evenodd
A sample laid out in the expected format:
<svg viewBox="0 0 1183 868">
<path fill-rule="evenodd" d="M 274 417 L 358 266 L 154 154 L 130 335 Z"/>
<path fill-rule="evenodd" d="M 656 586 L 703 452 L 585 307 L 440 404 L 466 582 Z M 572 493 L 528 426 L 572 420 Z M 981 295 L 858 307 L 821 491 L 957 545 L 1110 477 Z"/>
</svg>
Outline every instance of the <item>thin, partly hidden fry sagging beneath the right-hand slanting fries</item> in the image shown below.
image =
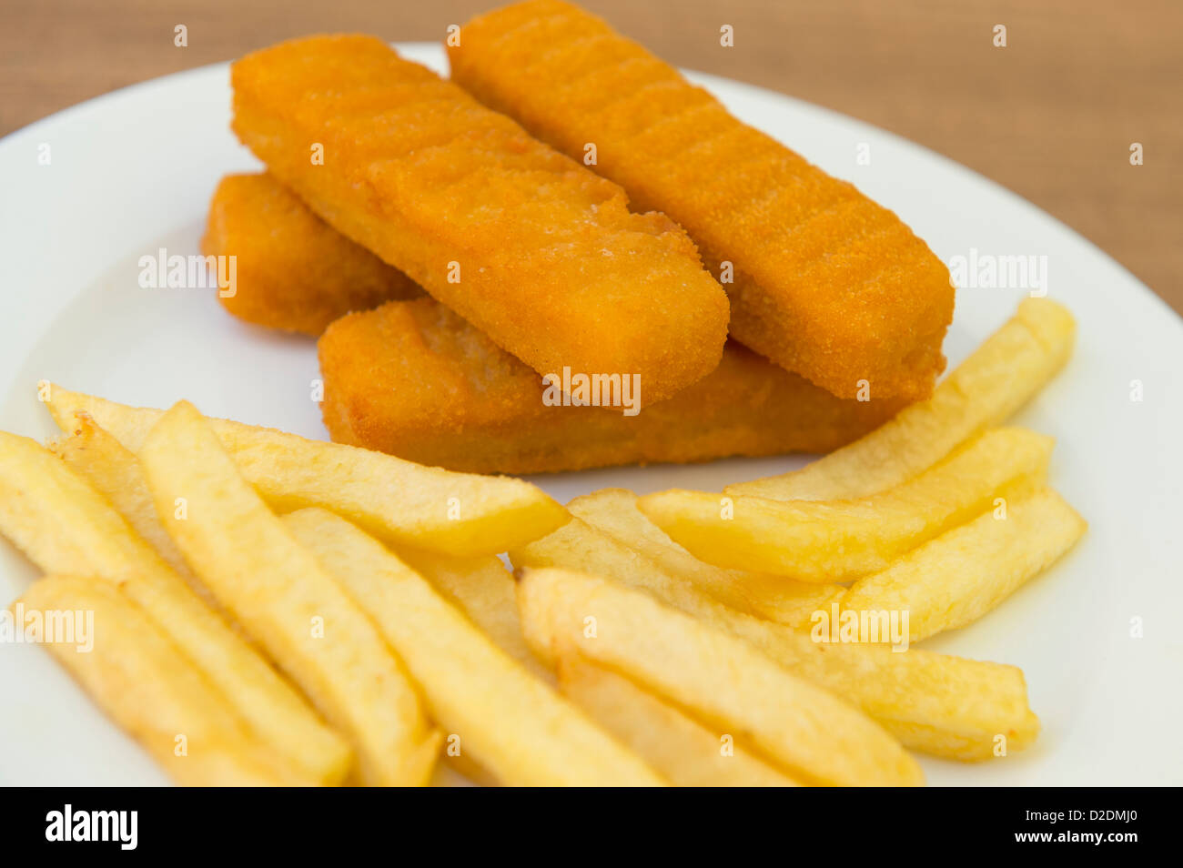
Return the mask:
<svg viewBox="0 0 1183 868">
<path fill-rule="evenodd" d="M 732 609 L 800 627 L 819 609 L 846 592 L 839 584 L 796 582 L 784 576 L 724 570 L 683 549 L 636 509 L 636 495 L 623 488 L 602 488 L 575 498 L 567 510 L 613 539 L 645 555 L 672 576 L 685 578 Z"/>
</svg>

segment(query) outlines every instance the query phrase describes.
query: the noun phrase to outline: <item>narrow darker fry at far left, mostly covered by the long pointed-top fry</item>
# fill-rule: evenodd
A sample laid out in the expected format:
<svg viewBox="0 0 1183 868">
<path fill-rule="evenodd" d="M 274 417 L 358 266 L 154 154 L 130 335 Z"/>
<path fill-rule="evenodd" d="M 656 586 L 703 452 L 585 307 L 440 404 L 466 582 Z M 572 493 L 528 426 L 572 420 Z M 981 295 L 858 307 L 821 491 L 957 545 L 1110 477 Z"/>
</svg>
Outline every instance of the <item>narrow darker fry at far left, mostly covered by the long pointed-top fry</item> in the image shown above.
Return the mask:
<svg viewBox="0 0 1183 868">
<path fill-rule="evenodd" d="M 185 563 L 181 550 L 164 532 L 164 526 L 156 516 L 156 507 L 148 491 L 148 480 L 144 479 L 143 468 L 135 453 L 125 449 L 85 413 L 75 414 L 72 430 L 67 434 L 69 436 L 51 442 L 50 451 L 65 461 L 70 469 L 90 482 L 95 491 L 110 500 L 131 529 L 143 537 L 179 576 L 190 583 L 196 582 L 189 571 L 189 565 Z"/>
</svg>

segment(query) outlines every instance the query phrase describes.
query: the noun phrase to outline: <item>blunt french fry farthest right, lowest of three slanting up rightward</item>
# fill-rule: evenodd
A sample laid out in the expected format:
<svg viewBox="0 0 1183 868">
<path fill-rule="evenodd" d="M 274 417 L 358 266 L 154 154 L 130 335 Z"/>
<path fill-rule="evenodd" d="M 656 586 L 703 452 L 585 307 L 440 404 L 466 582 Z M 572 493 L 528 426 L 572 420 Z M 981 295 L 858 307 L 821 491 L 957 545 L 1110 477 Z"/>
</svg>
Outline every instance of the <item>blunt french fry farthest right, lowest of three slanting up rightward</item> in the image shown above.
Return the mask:
<svg viewBox="0 0 1183 868">
<path fill-rule="evenodd" d="M 883 572 L 855 582 L 843 610 L 909 613 L 910 641 L 976 621 L 1039 575 L 1084 535 L 1087 524 L 1051 488 L 913 549 Z"/>
</svg>

